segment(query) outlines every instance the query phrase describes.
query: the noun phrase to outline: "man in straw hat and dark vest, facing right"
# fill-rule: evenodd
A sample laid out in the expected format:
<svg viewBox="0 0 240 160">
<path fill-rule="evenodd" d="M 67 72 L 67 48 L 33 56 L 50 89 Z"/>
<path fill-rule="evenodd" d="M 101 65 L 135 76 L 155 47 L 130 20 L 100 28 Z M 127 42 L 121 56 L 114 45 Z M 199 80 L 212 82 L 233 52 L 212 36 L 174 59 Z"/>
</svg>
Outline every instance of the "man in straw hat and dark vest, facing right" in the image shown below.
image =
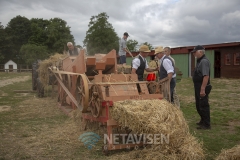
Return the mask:
<svg viewBox="0 0 240 160">
<path fill-rule="evenodd" d="M 148 63 L 146 57 L 148 56 L 149 52 L 151 52 L 147 45 L 142 45 L 139 49 L 139 55 L 136 56 L 132 61 L 132 74 L 138 75 L 138 80 L 143 81 L 143 74 L 144 71 L 153 72 L 157 71 L 156 69 L 150 69 L 148 67 Z"/>
</svg>

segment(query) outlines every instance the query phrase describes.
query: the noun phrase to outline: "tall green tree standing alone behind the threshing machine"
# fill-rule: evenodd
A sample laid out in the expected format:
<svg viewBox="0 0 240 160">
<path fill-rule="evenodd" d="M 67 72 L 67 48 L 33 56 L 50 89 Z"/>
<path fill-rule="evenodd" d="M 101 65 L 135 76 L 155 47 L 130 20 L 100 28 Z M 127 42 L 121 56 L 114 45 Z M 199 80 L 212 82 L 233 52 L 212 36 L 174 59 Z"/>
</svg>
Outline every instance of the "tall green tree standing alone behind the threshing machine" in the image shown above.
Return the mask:
<svg viewBox="0 0 240 160">
<path fill-rule="evenodd" d="M 89 29 L 83 41 L 89 55 L 108 53 L 112 49 L 118 50 L 119 38 L 108 18 L 105 12 L 90 18 Z"/>
</svg>

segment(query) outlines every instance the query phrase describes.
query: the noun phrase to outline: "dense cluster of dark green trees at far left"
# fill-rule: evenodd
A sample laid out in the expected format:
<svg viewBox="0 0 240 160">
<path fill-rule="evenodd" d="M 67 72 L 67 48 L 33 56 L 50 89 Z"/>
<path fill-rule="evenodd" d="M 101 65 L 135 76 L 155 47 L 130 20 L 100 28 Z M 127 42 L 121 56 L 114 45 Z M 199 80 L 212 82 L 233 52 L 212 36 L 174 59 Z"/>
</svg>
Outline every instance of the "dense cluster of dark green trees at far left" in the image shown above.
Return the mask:
<svg viewBox="0 0 240 160">
<path fill-rule="evenodd" d="M 12 59 L 31 64 L 55 52 L 62 53 L 69 41 L 74 43 L 74 37 L 66 21 L 60 18 L 29 20 L 19 15 L 6 27 L 0 22 L 0 63 Z"/>
</svg>

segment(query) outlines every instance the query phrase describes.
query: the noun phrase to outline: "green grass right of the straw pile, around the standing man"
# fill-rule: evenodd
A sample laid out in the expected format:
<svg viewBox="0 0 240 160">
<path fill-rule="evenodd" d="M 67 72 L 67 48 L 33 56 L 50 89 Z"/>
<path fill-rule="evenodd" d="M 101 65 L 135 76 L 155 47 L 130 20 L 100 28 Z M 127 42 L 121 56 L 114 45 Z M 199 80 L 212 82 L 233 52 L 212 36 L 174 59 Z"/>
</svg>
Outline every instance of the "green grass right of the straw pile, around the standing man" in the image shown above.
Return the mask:
<svg viewBox="0 0 240 160">
<path fill-rule="evenodd" d="M 199 116 L 195 108 L 194 97 L 191 101 L 186 101 L 187 98 L 194 95 L 191 81 L 191 79 L 183 79 L 177 84 L 181 109 L 189 123 L 191 133 L 203 141 L 207 159 L 214 159 L 221 149 L 240 144 L 240 80 L 211 80 L 213 86 L 209 96 L 211 130 L 196 129 L 195 123 L 199 121 Z M 236 121 L 236 125 L 230 125 L 231 121 Z"/>
</svg>

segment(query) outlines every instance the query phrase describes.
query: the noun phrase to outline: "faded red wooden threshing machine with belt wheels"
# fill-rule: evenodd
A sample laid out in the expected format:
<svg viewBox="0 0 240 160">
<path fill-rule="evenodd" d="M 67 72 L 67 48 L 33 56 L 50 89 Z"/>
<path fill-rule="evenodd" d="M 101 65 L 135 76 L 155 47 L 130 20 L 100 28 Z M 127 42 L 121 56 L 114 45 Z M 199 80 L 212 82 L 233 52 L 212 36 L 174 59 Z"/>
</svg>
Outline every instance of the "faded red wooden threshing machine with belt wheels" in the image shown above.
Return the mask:
<svg viewBox="0 0 240 160">
<path fill-rule="evenodd" d="M 118 127 L 109 111 L 110 107 L 114 107 L 114 102 L 170 97 L 168 79 L 140 82 L 136 74 L 118 73 L 116 59 L 115 50 L 94 56 L 85 56 L 82 50 L 77 57 L 62 59 L 59 67 L 50 68 L 58 81 L 61 108 L 67 113 L 79 109 L 83 129 L 86 127 L 85 121 L 96 121 L 107 127 L 110 136 L 113 127 Z M 105 149 L 126 147 L 129 144 L 120 146 L 109 142 Z"/>
</svg>

